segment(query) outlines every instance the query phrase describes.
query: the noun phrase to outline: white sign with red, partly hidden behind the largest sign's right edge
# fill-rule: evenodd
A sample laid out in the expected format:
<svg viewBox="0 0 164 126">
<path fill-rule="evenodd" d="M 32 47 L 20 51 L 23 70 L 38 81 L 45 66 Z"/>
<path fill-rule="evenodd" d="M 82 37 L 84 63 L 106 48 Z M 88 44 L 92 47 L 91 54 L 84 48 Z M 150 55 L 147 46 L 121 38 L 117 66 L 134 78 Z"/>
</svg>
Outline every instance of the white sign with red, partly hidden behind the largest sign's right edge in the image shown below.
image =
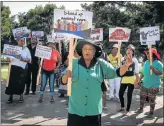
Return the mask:
<svg viewBox="0 0 164 126">
<path fill-rule="evenodd" d="M 93 42 L 103 41 L 103 28 L 92 29 L 89 40 Z"/>
</svg>

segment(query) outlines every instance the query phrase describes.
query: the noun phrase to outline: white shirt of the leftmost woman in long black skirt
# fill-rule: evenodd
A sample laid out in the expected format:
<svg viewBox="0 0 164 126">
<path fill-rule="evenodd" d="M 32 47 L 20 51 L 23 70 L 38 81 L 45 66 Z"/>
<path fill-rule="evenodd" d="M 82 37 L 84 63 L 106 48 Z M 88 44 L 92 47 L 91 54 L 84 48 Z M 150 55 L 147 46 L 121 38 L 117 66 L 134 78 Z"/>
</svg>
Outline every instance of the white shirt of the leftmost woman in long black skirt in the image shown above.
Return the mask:
<svg viewBox="0 0 164 126">
<path fill-rule="evenodd" d="M 30 62 L 31 62 L 31 53 L 27 47 L 23 48 L 23 50 L 21 52 L 21 57 L 30 59 Z M 22 67 L 23 69 L 25 69 L 27 62 L 20 61 L 20 59 L 11 59 L 11 65 L 19 66 L 19 67 Z"/>
</svg>

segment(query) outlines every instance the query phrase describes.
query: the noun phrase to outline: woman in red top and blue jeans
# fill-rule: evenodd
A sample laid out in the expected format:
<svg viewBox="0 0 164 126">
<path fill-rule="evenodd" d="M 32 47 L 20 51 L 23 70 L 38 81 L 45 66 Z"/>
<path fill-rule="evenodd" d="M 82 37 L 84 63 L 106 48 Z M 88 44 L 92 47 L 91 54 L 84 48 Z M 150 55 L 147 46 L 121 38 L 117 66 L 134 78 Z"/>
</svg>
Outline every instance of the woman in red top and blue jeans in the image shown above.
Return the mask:
<svg viewBox="0 0 164 126">
<path fill-rule="evenodd" d="M 42 79 L 41 79 L 41 87 L 40 87 L 40 98 L 38 100 L 39 103 L 42 102 L 43 100 L 43 94 L 44 94 L 44 90 L 46 88 L 46 84 L 47 84 L 47 79 L 49 79 L 49 87 L 50 87 L 50 102 L 54 103 L 54 80 L 55 80 L 55 74 L 54 72 L 59 68 L 60 64 L 61 64 L 61 57 L 60 54 L 57 50 L 55 50 L 55 44 L 53 41 L 48 40 L 48 42 L 46 43 L 48 47 L 52 48 L 52 53 L 51 53 L 51 59 L 47 60 L 44 59 L 43 60 L 43 66 L 42 66 Z M 58 62 L 58 65 L 56 66 Z"/>
</svg>

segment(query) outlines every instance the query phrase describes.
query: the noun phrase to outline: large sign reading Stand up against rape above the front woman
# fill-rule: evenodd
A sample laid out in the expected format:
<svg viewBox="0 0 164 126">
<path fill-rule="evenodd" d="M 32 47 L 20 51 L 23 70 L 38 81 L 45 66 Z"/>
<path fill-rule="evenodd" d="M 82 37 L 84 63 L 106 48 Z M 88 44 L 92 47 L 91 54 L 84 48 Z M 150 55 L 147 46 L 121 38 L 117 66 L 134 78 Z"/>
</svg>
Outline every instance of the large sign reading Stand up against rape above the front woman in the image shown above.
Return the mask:
<svg viewBox="0 0 164 126">
<path fill-rule="evenodd" d="M 74 38 L 90 38 L 92 28 L 92 12 L 54 10 L 54 32 L 63 33 L 65 36 Z"/>
</svg>

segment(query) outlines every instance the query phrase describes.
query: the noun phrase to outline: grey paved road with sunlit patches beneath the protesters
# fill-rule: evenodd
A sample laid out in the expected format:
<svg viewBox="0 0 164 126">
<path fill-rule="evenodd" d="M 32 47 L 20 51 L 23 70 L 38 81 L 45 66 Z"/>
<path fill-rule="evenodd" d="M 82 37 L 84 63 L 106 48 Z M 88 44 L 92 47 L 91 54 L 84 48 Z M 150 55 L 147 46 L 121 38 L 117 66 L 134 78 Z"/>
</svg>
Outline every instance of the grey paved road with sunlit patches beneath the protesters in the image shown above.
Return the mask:
<svg viewBox="0 0 164 126">
<path fill-rule="evenodd" d="M 39 91 L 39 87 L 37 87 Z M 1 123 L 2 125 L 56 125 L 66 126 L 67 98 L 58 98 L 56 92 L 56 102 L 51 104 L 48 94 L 48 87 L 44 95 L 43 103 L 38 103 L 39 92 L 34 95 L 24 96 L 24 103 L 18 103 L 18 96 L 14 96 L 13 104 L 6 104 L 8 96 L 4 94 L 5 85 L 1 85 Z M 133 103 L 131 107 L 131 115 L 123 116 L 122 113 L 117 113 L 116 110 L 120 106 L 117 101 L 108 101 L 108 110 L 102 114 L 102 126 L 109 125 L 163 125 L 163 95 L 158 96 L 156 102 L 155 118 L 148 119 L 145 113 L 149 111 L 147 105 L 144 109 L 144 114 L 136 115 L 134 111 L 139 106 L 139 90 L 134 91 Z M 125 94 L 126 96 L 126 94 Z"/>
</svg>

